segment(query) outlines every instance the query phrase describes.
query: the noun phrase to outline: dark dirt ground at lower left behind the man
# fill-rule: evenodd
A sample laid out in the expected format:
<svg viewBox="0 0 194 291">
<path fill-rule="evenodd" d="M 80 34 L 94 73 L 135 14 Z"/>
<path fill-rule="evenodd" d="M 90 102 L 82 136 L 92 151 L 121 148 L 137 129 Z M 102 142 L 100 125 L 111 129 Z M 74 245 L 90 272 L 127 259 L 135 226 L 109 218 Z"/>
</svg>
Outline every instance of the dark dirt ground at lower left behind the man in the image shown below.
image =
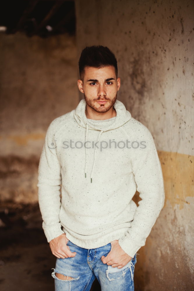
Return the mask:
<svg viewBox="0 0 194 291">
<path fill-rule="evenodd" d="M 55 257 L 42 229 L 38 204 L 0 207 L 0 290 L 54 291 Z M 94 281 L 92 291 L 100 291 Z"/>
</svg>

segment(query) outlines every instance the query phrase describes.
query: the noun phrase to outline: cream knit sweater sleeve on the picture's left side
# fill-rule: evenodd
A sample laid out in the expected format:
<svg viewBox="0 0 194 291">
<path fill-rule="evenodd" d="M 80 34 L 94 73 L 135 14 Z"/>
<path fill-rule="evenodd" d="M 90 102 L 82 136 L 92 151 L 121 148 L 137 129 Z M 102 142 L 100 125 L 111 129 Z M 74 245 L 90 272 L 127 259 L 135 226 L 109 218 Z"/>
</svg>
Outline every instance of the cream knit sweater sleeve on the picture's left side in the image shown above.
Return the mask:
<svg viewBox="0 0 194 291">
<path fill-rule="evenodd" d="M 43 218 L 43 230 L 50 242 L 62 233 L 59 221 L 61 206 L 61 165 L 57 158 L 54 121 L 48 127 L 38 167 L 38 201 Z"/>
</svg>

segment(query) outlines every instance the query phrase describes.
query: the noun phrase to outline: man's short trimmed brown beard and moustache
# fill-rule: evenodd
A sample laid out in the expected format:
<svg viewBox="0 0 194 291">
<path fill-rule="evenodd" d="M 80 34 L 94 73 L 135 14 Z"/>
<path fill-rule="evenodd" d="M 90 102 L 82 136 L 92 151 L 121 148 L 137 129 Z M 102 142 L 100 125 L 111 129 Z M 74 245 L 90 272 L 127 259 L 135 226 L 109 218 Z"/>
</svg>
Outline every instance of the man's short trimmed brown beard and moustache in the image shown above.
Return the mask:
<svg viewBox="0 0 194 291">
<path fill-rule="evenodd" d="M 107 98 L 106 96 L 104 96 L 103 98 L 99 97 L 96 99 L 89 99 L 87 98 L 87 96 L 84 94 L 84 98 L 86 101 L 86 104 L 91 107 L 92 109 L 94 109 L 96 112 L 107 112 L 109 111 L 109 109 L 114 105 L 114 103 L 117 100 L 117 94 L 115 95 L 115 97 L 111 100 L 109 98 Z M 108 101 L 106 104 L 99 104 L 98 106 L 95 105 L 95 101 Z"/>
</svg>

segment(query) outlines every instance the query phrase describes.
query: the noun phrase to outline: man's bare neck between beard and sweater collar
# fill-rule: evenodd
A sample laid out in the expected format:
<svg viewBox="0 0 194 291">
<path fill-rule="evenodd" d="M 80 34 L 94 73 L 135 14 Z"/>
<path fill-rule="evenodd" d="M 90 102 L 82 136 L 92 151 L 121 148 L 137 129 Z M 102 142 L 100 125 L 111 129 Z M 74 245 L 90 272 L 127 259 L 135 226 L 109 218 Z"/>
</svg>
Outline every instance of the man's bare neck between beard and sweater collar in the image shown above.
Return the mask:
<svg viewBox="0 0 194 291">
<path fill-rule="evenodd" d="M 94 109 L 86 106 L 86 117 L 94 120 L 105 120 L 117 116 L 116 110 L 113 106 L 107 112 L 96 112 Z"/>
</svg>

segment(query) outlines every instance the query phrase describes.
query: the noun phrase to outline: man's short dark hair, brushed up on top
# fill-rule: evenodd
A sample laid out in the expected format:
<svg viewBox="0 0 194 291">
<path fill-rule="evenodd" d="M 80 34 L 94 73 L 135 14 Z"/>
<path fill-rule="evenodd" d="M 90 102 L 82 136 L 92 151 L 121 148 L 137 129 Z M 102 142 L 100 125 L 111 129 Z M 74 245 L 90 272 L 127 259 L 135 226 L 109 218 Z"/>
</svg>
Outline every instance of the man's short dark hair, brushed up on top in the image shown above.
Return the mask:
<svg viewBox="0 0 194 291">
<path fill-rule="evenodd" d="M 82 81 L 84 79 L 85 67 L 103 68 L 105 66 L 114 66 L 117 76 L 117 59 L 108 47 L 103 47 L 102 45 L 85 47 L 79 60 L 80 79 Z"/>
</svg>

